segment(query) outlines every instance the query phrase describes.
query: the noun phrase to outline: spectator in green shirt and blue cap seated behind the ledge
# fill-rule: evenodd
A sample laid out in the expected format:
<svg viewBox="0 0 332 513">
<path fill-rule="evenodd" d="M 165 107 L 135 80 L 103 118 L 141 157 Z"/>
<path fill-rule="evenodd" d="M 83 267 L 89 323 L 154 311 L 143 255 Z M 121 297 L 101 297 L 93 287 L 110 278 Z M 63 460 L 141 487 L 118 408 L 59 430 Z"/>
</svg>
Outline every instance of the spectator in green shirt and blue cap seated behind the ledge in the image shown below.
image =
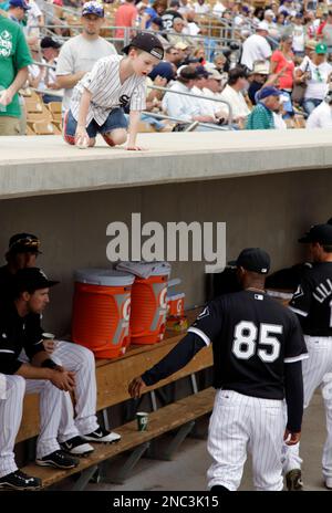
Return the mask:
<svg viewBox="0 0 332 513">
<path fill-rule="evenodd" d="M 274 129 L 273 112 L 280 107 L 281 92 L 277 87 L 267 86 L 258 92 L 258 103 L 247 118 L 247 130 Z"/>
</svg>

